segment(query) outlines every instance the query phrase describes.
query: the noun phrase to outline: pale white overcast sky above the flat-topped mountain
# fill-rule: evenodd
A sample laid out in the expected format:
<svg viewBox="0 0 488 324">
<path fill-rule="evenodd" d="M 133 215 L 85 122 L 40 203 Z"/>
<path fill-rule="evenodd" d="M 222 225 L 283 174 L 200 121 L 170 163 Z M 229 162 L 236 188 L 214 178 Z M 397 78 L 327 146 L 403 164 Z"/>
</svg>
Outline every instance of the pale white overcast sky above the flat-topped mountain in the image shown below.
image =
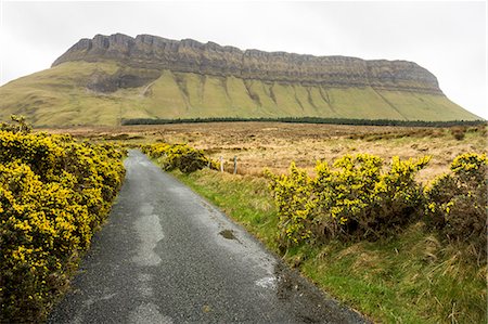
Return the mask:
<svg viewBox="0 0 488 324">
<path fill-rule="evenodd" d="M 449 99 L 488 119 L 486 1 L 1 0 L 0 8 L 0 85 L 49 68 L 80 38 L 150 34 L 242 50 L 413 61 Z"/>
</svg>

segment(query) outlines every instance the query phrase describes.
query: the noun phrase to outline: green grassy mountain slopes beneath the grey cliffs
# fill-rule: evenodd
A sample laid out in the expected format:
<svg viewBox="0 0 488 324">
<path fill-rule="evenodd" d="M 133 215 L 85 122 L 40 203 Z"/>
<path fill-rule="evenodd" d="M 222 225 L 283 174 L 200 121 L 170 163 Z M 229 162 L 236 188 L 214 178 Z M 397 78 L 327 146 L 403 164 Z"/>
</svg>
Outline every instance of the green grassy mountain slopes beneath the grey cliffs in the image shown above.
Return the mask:
<svg viewBox="0 0 488 324">
<path fill-rule="evenodd" d="M 0 120 L 24 115 L 36 126 L 117 125 L 120 118 L 324 117 L 472 120 L 479 117 L 444 95 L 324 88 L 164 70 L 143 87 L 94 93 L 94 73 L 115 74 L 116 63 L 67 62 L 0 87 Z M 144 74 L 144 70 L 133 69 Z"/>
</svg>

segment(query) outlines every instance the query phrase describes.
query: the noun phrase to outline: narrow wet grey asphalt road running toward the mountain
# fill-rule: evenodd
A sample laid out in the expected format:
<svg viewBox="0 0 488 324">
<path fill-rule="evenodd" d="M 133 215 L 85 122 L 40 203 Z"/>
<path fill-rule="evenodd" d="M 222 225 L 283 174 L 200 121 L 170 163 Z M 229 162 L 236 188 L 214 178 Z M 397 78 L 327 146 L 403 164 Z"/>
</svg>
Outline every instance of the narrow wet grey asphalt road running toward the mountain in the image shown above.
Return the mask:
<svg viewBox="0 0 488 324">
<path fill-rule="evenodd" d="M 48 323 L 364 323 L 139 151 Z"/>
</svg>

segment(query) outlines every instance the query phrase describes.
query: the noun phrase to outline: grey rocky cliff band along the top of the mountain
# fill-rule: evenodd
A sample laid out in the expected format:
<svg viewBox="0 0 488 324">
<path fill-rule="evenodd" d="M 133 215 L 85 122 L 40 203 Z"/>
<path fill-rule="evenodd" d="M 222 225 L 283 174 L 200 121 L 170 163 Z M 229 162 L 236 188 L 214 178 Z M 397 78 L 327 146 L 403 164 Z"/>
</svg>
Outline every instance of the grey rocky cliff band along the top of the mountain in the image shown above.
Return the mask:
<svg viewBox="0 0 488 324">
<path fill-rule="evenodd" d="M 93 39 L 81 39 L 53 66 L 73 61 L 116 61 L 130 67 L 131 72 L 94 76 L 87 86 L 102 92 L 140 87 L 157 79 L 158 72 L 171 70 L 303 86 L 372 87 L 442 94 L 436 77 L 412 62 L 242 51 L 214 42 L 177 41 L 150 35 L 136 38 L 123 34 L 97 35 Z"/>
</svg>

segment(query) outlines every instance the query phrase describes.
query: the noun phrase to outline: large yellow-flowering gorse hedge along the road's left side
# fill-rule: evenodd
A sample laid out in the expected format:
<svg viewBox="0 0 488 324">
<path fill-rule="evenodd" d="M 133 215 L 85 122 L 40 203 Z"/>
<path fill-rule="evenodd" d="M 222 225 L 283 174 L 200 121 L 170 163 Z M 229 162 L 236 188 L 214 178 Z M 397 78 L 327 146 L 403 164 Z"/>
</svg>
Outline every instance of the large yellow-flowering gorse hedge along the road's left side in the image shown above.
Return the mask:
<svg viewBox="0 0 488 324">
<path fill-rule="evenodd" d="M 121 185 L 123 152 L 0 130 L 1 323 L 39 321 Z"/>
</svg>

